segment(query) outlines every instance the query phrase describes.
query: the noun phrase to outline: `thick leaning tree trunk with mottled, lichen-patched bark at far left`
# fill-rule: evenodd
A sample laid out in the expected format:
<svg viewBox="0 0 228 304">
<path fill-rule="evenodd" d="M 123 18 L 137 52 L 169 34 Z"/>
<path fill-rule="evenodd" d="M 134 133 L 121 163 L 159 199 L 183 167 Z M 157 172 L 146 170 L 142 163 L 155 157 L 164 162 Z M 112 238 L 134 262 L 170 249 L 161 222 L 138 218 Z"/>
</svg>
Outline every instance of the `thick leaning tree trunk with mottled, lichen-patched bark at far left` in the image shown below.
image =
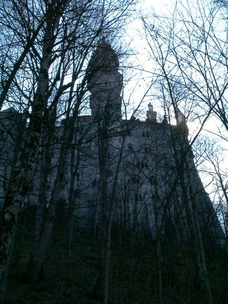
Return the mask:
<svg viewBox="0 0 228 304">
<path fill-rule="evenodd" d="M 55 26 L 56 25 L 55 20 Z M 8 265 L 13 247 L 13 238 L 18 220 L 18 212 L 24 197 L 28 193 L 30 179 L 33 175 L 37 155 L 39 153 L 40 138 L 43 126 L 43 109 L 47 102 L 46 93 L 49 85 L 48 72 L 50 68 L 50 58 L 53 45 L 53 27 L 51 27 L 48 28 L 44 39 L 39 80 L 37 83 L 36 94 L 32 103 L 32 113 L 26 132 L 24 151 L 21 154 L 20 161 L 15 167 L 12 185 L 8 189 L 1 214 L 2 235 L 0 242 L 0 298 L 2 302 L 4 302 L 5 298 L 6 284 L 4 282 L 7 280 Z"/>
</svg>

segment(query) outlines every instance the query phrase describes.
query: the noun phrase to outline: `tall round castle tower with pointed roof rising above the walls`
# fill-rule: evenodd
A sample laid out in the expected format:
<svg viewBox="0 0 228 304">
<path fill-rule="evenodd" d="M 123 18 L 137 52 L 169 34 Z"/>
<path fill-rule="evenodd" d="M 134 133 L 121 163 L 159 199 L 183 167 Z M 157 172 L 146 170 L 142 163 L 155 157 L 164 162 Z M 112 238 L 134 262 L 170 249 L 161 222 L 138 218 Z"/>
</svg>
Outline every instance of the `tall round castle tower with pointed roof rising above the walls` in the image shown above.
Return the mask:
<svg viewBox="0 0 228 304">
<path fill-rule="evenodd" d="M 103 39 L 92 55 L 87 69 L 91 116 L 94 121 L 106 121 L 112 125 L 122 120 L 120 93 L 123 76 L 118 68 L 117 54 Z"/>
</svg>

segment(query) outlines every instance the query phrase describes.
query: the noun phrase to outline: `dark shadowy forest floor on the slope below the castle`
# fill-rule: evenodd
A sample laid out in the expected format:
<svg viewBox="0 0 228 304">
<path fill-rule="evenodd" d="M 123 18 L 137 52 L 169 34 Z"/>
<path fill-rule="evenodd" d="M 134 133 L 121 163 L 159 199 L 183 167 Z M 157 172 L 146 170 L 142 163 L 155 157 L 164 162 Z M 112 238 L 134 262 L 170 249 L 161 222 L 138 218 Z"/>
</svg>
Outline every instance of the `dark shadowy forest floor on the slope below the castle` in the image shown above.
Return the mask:
<svg viewBox="0 0 228 304">
<path fill-rule="evenodd" d="M 62 225 L 56 225 L 44 265 L 44 279 L 37 284 L 24 283 L 24 273 L 32 247 L 33 224 L 18 229 L 9 268 L 6 304 L 95 304 L 93 287 L 96 282 L 97 252 L 93 230 L 76 231 L 70 258 L 63 248 Z M 118 227 L 112 241 L 110 270 L 111 304 L 159 303 L 159 271 L 156 254 L 136 248 L 120 250 Z M 127 247 L 126 247 L 127 248 Z M 193 265 L 184 254 L 164 257 L 162 276 L 163 303 L 204 304 L 205 293 L 192 276 Z M 208 272 L 215 304 L 228 303 L 225 258 L 208 261 Z"/>
</svg>

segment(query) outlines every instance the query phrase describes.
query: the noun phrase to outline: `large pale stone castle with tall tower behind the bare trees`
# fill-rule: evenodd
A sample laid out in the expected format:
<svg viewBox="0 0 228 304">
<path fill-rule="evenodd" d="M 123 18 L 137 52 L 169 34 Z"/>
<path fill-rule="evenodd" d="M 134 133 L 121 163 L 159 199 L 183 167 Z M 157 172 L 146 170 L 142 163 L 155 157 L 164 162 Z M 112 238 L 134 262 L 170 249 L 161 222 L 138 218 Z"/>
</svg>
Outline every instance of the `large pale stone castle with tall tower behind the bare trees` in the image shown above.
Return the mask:
<svg viewBox="0 0 228 304">
<path fill-rule="evenodd" d="M 76 225 L 93 225 L 113 208 L 113 219 L 129 229 L 149 231 L 153 239 L 169 235 L 179 242 L 193 220 L 194 197 L 203 238 L 222 244 L 223 231 L 195 167 L 183 114 L 176 109 L 177 125 L 170 125 L 166 118 L 160 123 L 149 103 L 145 121 L 134 116 L 123 120 L 123 77 L 118 68 L 117 54 L 102 41 L 87 69 L 91 116 L 75 119 L 70 143 L 64 138 L 67 120 L 62 120 L 52 143 L 46 145 L 50 156 L 43 189 L 46 207 L 61 170 L 59 202 L 73 212 Z M 2 205 L 18 157 L 15 146 L 23 140 L 20 128 L 26 129 L 26 124 L 14 108 L 0 113 L 0 124 Z M 64 164 L 59 167 L 64 144 Z M 23 205 L 39 204 L 41 155 L 36 167 Z"/>
</svg>

